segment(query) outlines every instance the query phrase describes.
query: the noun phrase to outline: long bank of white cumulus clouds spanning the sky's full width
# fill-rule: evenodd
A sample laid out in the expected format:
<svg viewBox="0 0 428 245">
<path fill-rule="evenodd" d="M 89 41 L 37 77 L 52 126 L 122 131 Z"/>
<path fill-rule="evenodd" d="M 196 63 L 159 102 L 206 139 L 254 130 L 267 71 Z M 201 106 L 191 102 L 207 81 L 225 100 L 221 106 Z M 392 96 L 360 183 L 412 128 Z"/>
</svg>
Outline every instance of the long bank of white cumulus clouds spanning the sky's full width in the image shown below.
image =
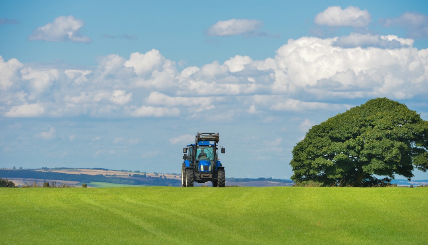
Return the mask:
<svg viewBox="0 0 428 245">
<path fill-rule="evenodd" d="M 214 61 L 181 72 L 158 50 L 134 53 L 129 60 L 111 54 L 98 62 L 97 67 L 82 70 L 52 69 L 18 60 L 10 69 L 8 65 L 4 68 L 7 62 L 0 63 L 4 77 L 12 74 L 3 83 L 7 89 L 0 89 L 0 114 L 209 116 L 217 121 L 250 114 L 267 122 L 276 120 L 273 114 L 278 111 L 349 108 L 342 104 L 345 102 L 326 101 L 407 99 L 428 93 L 428 49 L 418 50 L 413 39 L 395 35 L 353 33 L 289 39 L 275 56 L 264 60 L 233 56 L 223 64 Z"/>
</svg>

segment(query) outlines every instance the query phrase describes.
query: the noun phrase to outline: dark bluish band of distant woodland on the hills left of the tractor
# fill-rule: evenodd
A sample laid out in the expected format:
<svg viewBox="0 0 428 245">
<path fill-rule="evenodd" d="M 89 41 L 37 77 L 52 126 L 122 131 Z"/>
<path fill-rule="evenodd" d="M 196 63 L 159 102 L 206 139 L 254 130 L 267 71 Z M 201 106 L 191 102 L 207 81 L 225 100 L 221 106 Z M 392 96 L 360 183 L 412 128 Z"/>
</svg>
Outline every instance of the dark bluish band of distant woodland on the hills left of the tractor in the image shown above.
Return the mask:
<svg viewBox="0 0 428 245">
<path fill-rule="evenodd" d="M 138 177 L 143 177 L 143 174 Z M 65 174 L 56 172 L 42 172 L 33 170 L 10 170 L 0 169 L 0 177 L 8 178 L 34 178 L 43 180 L 68 180 L 79 182 L 106 182 L 115 184 L 126 185 L 152 185 L 152 186 L 181 186 L 180 180 L 165 179 L 165 178 L 148 178 L 148 180 L 137 180 L 131 178 L 121 177 L 106 177 L 102 174 L 89 175 L 89 174 Z"/>
</svg>

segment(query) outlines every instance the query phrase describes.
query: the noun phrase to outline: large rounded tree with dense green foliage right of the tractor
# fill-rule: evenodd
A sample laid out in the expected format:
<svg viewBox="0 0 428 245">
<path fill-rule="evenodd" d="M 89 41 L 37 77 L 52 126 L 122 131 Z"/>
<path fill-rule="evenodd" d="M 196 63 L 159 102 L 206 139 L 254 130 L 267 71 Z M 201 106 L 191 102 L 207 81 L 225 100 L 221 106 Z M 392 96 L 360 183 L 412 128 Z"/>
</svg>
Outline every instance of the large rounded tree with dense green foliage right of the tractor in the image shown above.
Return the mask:
<svg viewBox="0 0 428 245">
<path fill-rule="evenodd" d="M 404 104 L 367 101 L 313 126 L 293 149 L 296 183 L 371 186 L 428 168 L 428 122 Z M 378 179 L 377 176 L 382 176 Z"/>
</svg>

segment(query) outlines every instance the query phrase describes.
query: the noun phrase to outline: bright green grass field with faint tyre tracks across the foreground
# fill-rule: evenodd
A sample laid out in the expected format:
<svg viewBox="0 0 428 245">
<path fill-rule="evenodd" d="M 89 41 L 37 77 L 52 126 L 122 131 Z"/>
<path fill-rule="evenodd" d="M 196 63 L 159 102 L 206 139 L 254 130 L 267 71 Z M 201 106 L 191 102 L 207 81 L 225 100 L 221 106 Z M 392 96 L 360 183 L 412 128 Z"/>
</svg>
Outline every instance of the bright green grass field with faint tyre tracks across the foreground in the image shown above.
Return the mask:
<svg viewBox="0 0 428 245">
<path fill-rule="evenodd" d="M 0 244 L 428 244 L 428 188 L 0 188 Z"/>
</svg>

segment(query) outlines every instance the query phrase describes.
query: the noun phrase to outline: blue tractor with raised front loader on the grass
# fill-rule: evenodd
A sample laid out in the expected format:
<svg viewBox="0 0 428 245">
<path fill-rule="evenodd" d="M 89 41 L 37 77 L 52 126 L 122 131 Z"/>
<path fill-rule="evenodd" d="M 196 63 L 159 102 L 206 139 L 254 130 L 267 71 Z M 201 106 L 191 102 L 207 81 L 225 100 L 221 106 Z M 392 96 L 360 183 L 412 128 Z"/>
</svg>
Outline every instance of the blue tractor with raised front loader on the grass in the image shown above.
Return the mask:
<svg viewBox="0 0 428 245">
<path fill-rule="evenodd" d="M 224 167 L 218 158 L 217 149 L 221 153 L 226 150 L 218 146 L 219 133 L 198 133 L 195 144 L 183 148 L 183 165 L 181 166 L 181 186 L 193 187 L 193 183 L 211 181 L 213 187 L 224 187 L 226 176 Z"/>
</svg>

